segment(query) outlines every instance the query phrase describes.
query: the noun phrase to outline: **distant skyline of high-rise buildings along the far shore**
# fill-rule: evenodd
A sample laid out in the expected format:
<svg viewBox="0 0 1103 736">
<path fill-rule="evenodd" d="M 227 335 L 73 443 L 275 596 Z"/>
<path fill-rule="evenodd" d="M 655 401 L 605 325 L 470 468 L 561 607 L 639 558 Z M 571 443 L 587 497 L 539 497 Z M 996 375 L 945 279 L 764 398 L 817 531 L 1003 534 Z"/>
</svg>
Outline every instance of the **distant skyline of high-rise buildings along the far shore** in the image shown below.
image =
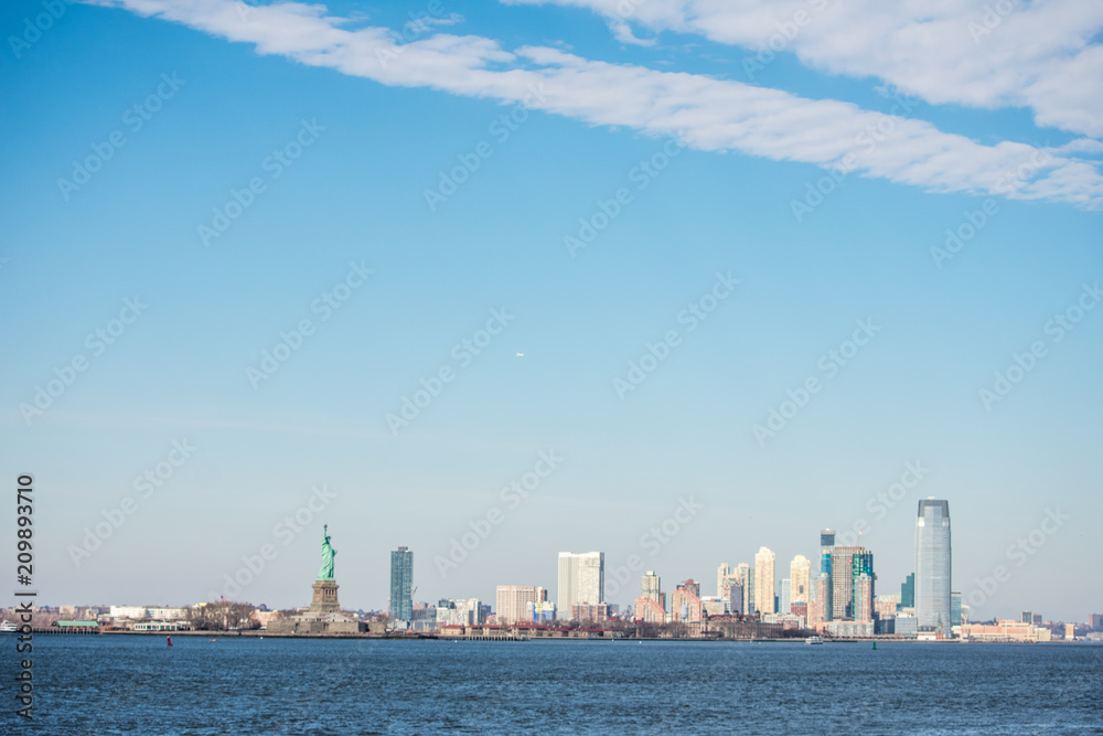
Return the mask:
<svg viewBox="0 0 1103 736">
<path fill-rule="evenodd" d="M 951 628 L 957 626 L 954 622 L 963 620 L 963 604 L 968 604 L 970 595 L 963 596 L 960 591 L 951 593 L 953 580 L 951 577 L 949 519 L 946 500 L 928 498 L 919 501 L 914 561 L 915 569 L 923 580 L 922 585 L 918 586 L 924 591 L 922 594 L 917 594 L 917 573 L 908 574 L 899 586 L 899 593 L 885 594 L 884 587 L 881 593 L 877 593 L 875 582 L 878 576 L 874 568 L 872 553 L 860 545 L 838 545 L 834 530 L 823 529 L 820 532 L 820 566 L 821 569 L 827 572 L 821 573 L 815 583 L 810 579 L 811 563 L 804 555 L 794 556 L 789 567 L 790 578 L 781 578 L 775 569 L 777 555 L 768 547 L 762 546 L 754 555 L 754 566 L 749 566 L 747 563 L 739 563 L 735 566 L 720 563 L 717 568 L 715 598 L 705 596 L 700 591 L 699 583 L 695 583 L 692 576 L 683 578 L 683 583 L 676 584 L 673 590 L 662 590 L 660 574 L 655 570 L 646 570 L 640 578 L 639 597 L 625 609 L 654 606 L 655 611 L 665 611 L 667 619 L 674 617 L 674 620 L 677 620 L 678 609 L 681 608 L 683 617 L 686 616 L 688 604 L 692 620 L 696 621 L 699 620 L 702 611 L 706 608 L 703 607 L 703 601 L 706 600 L 724 601 L 722 612 L 746 612 L 767 617 L 788 617 L 791 612 L 791 606 L 794 607 L 792 612 L 796 614 L 795 606 L 800 605 L 802 606 L 800 616 L 805 618 L 807 625 L 812 627 L 816 622 L 823 623 L 833 620 L 871 621 L 875 618 L 875 610 L 879 610 L 875 598 L 877 600 L 895 598 L 897 605 L 892 608 L 892 616 L 898 616 L 900 607 L 903 607 L 904 616 L 917 621 L 917 631 L 936 632 L 940 637 L 950 637 Z M 323 524 L 323 531 L 325 526 L 328 525 Z M 323 572 L 319 573 L 319 580 L 333 579 L 332 559 L 335 553 L 329 547 L 329 543 L 330 537 L 323 536 Z M 329 557 L 326 557 L 326 551 L 329 551 Z M 413 551 L 405 546 L 399 546 L 397 551 L 390 552 L 390 596 L 388 597 L 387 612 L 392 620 L 411 627 L 413 630 L 419 630 L 416 611 L 426 606 L 427 602 L 414 600 L 413 597 L 417 590 L 413 557 Z M 322 576 L 325 574 L 330 577 L 323 578 Z M 236 582 L 242 587 L 247 587 L 253 575 L 249 574 L 246 580 L 238 577 Z M 495 601 L 495 607 L 491 609 L 486 605 L 483 608 L 488 612 L 492 610 L 496 612 L 500 617 L 499 623 L 505 625 L 517 621 L 572 620 L 579 604 L 582 604 L 583 608 L 589 606 L 592 614 L 592 609 L 598 604 L 589 602 L 590 600 L 600 601 L 602 606 L 613 602 L 607 600 L 603 595 L 604 579 L 604 553 L 560 552 L 558 553 L 558 579 L 555 588 L 556 604 L 550 601 L 548 588 L 540 585 L 497 584 L 495 595 L 491 598 Z M 757 580 L 757 584 L 745 587 L 742 585 L 745 580 L 747 583 Z M 797 584 L 791 587 L 793 580 L 797 580 Z M 806 587 L 801 585 L 802 580 L 808 580 L 808 585 Z M 233 582 L 229 580 L 229 583 Z M 738 590 L 740 596 L 738 604 L 729 602 L 729 586 Z M 751 605 L 749 598 L 754 596 L 756 588 L 762 597 L 754 605 Z M 620 588 L 618 587 L 618 589 Z M 806 589 L 807 593 L 802 594 L 802 589 Z M 896 588 L 889 585 L 889 589 Z M 771 590 L 773 595 L 769 594 Z M 974 595 L 978 591 L 973 591 Z M 485 598 L 441 597 L 439 600 L 441 605 L 445 601 L 449 601 L 450 606 L 458 604 L 467 611 L 463 614 L 464 616 L 472 615 L 481 620 L 482 611 L 471 614 L 475 610 L 471 606 L 480 600 L 485 600 Z M 620 608 L 621 605 L 617 604 L 617 607 Z M 115 607 L 113 606 L 113 608 Z M 695 614 L 694 610 L 696 610 Z M 642 616 L 645 620 L 653 618 L 650 610 L 644 610 L 642 614 L 638 610 L 635 616 L 638 618 Z M 1022 616 L 1027 616 L 1027 614 L 1024 612 Z M 1004 617 L 997 616 L 995 618 Z M 1035 615 L 1035 619 L 1036 622 L 1039 621 L 1040 616 Z M 456 620 L 451 620 L 450 618 L 449 620 L 462 625 L 463 620 L 471 623 L 474 619 L 456 618 Z"/>
</svg>

